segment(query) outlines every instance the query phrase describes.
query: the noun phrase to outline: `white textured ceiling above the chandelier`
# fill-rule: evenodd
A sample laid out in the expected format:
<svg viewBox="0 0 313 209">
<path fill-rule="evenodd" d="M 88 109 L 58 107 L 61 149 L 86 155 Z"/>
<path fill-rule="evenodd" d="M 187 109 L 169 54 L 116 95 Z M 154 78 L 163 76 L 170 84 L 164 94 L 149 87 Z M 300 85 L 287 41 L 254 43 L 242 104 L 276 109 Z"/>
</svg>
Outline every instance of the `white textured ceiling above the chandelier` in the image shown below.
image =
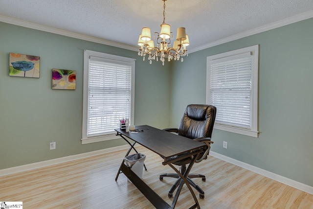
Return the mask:
<svg viewBox="0 0 313 209">
<path fill-rule="evenodd" d="M 313 11 L 313 0 L 167 0 L 165 22 L 185 27 L 190 46 Z M 144 26 L 159 32 L 162 0 L 0 0 L 0 15 L 136 46 Z M 310 13 L 311 14 L 311 13 Z M 0 19 L 1 21 L 1 19 Z"/>
</svg>

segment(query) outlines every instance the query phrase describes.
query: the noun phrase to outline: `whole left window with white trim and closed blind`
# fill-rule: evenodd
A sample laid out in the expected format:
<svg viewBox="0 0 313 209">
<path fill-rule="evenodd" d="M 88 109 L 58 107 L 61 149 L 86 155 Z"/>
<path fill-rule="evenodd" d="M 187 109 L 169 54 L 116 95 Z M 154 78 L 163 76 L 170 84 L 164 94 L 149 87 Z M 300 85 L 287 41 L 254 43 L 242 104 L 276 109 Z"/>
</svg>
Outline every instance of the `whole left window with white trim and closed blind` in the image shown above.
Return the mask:
<svg viewBox="0 0 313 209">
<path fill-rule="evenodd" d="M 82 144 L 117 139 L 119 120 L 134 124 L 135 60 L 84 51 Z"/>
</svg>

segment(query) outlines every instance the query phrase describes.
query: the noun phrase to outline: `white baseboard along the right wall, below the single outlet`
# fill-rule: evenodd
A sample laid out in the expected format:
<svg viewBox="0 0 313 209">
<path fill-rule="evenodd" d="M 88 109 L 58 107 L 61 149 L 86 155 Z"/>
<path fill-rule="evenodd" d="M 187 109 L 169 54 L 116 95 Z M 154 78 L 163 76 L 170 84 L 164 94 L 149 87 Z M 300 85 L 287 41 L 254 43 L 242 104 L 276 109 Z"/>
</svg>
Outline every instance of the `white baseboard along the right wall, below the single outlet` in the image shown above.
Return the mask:
<svg viewBox="0 0 313 209">
<path fill-rule="evenodd" d="M 223 160 L 223 161 L 225 161 L 227 163 L 231 163 L 231 164 L 237 165 L 239 167 L 245 168 L 245 169 L 247 169 L 249 171 L 252 171 L 254 173 L 257 173 L 257 174 L 260 174 L 262 176 L 268 177 L 269 179 L 275 180 L 277 182 L 280 182 L 280 183 L 283 183 L 285 185 L 291 186 L 293 188 L 299 189 L 301 191 L 307 192 L 309 194 L 313 194 L 313 186 L 305 185 L 303 183 L 294 181 L 292 179 L 288 179 L 288 178 L 286 178 L 284 176 L 280 176 L 278 174 L 269 172 L 269 171 L 264 170 L 262 168 L 250 165 L 248 163 L 244 163 L 244 162 L 235 160 L 233 158 L 229 158 L 227 156 L 221 155 L 221 154 L 216 153 L 216 152 L 210 151 L 210 156 L 218 158 L 218 159 L 221 159 L 221 160 Z"/>
</svg>

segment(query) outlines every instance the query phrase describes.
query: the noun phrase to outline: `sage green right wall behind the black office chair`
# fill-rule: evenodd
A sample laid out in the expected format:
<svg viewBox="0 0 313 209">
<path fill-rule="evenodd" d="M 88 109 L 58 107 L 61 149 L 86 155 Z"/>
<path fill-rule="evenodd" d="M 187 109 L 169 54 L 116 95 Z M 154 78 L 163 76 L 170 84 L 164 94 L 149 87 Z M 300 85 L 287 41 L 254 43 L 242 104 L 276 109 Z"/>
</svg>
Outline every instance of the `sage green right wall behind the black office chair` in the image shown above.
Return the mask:
<svg viewBox="0 0 313 209">
<path fill-rule="evenodd" d="M 170 125 L 178 126 L 187 104 L 205 103 L 207 56 L 253 45 L 260 46 L 259 138 L 215 129 L 211 150 L 313 186 L 313 19 L 197 51 L 175 64 Z"/>
</svg>

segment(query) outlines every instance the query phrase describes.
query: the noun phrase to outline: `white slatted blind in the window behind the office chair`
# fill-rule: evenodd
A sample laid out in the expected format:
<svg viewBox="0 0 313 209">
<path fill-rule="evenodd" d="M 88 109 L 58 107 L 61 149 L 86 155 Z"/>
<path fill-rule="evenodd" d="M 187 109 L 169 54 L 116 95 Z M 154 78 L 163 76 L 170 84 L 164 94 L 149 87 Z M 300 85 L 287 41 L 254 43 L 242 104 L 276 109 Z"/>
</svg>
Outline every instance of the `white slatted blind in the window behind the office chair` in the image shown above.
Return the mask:
<svg viewBox="0 0 313 209">
<path fill-rule="evenodd" d="M 251 128 L 251 55 L 244 53 L 211 63 L 210 104 L 216 123 Z"/>
</svg>

